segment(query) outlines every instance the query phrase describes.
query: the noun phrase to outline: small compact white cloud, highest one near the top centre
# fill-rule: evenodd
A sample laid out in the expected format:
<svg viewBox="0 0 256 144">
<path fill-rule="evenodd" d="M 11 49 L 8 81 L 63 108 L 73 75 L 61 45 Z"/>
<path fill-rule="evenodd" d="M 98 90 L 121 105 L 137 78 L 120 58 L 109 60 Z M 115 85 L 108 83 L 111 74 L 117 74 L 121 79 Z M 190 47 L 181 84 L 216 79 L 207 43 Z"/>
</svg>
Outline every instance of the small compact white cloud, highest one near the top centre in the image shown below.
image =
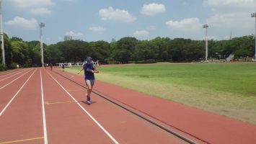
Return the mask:
<svg viewBox="0 0 256 144">
<path fill-rule="evenodd" d="M 164 4 L 144 4 L 141 8 L 141 14 L 145 15 L 156 15 L 165 12 Z"/>
</svg>

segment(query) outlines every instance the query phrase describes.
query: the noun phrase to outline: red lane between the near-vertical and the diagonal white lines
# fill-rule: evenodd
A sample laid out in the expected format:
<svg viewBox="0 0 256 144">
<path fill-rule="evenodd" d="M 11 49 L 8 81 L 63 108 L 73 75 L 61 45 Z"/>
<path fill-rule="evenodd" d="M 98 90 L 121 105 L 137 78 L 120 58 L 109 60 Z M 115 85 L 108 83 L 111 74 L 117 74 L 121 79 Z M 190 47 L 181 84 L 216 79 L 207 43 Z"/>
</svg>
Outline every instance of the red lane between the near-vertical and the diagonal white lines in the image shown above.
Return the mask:
<svg viewBox="0 0 256 144">
<path fill-rule="evenodd" d="M 42 69 L 48 143 L 113 143 Z"/>
</svg>

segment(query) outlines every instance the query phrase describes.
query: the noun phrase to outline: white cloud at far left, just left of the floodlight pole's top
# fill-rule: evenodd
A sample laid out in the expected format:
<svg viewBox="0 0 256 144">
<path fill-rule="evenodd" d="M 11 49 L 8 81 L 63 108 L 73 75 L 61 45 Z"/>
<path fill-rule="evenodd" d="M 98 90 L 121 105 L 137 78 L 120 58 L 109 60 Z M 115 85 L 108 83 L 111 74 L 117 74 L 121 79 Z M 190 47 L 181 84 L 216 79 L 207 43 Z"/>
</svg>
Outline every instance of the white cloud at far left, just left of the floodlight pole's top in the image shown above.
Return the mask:
<svg viewBox="0 0 256 144">
<path fill-rule="evenodd" d="M 25 19 L 23 17 L 14 17 L 14 19 L 9 20 L 5 23 L 6 25 L 23 27 L 26 29 L 36 29 L 38 27 L 38 22 L 36 19 Z"/>
</svg>

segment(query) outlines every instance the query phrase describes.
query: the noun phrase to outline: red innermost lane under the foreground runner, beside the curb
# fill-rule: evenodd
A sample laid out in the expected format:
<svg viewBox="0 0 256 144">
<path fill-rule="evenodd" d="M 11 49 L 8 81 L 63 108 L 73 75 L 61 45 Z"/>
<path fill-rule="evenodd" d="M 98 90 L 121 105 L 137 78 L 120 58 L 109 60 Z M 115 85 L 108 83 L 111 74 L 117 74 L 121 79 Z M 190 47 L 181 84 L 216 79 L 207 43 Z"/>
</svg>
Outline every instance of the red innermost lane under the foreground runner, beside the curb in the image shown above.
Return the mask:
<svg viewBox="0 0 256 144">
<path fill-rule="evenodd" d="M 159 129 L 149 122 L 116 107 L 114 104 L 92 94 L 92 104 L 88 107 L 85 91 L 81 86 L 70 84 L 70 81 L 53 73 L 53 76 L 68 89 L 81 105 L 92 113 L 120 143 L 186 143 L 180 138 Z"/>
</svg>

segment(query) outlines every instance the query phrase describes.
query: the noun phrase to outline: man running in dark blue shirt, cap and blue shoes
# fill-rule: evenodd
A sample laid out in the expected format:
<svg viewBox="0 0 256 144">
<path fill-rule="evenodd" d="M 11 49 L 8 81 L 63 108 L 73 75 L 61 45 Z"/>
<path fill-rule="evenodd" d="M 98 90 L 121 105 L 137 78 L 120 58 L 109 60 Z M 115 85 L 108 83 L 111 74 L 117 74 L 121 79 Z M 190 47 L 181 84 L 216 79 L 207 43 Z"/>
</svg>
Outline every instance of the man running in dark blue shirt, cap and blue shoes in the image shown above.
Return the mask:
<svg viewBox="0 0 256 144">
<path fill-rule="evenodd" d="M 85 80 L 85 84 L 87 84 L 87 104 L 91 104 L 91 92 L 92 92 L 92 87 L 94 86 L 94 73 L 99 73 L 99 71 L 97 70 L 97 67 L 94 66 L 94 63 L 92 62 L 92 58 L 91 57 L 87 57 L 87 63 L 84 63 L 83 68 L 81 68 L 81 70 L 79 71 L 79 73 L 81 73 L 81 71 L 84 70 L 84 80 Z M 79 74 L 78 73 L 78 74 Z"/>
</svg>

